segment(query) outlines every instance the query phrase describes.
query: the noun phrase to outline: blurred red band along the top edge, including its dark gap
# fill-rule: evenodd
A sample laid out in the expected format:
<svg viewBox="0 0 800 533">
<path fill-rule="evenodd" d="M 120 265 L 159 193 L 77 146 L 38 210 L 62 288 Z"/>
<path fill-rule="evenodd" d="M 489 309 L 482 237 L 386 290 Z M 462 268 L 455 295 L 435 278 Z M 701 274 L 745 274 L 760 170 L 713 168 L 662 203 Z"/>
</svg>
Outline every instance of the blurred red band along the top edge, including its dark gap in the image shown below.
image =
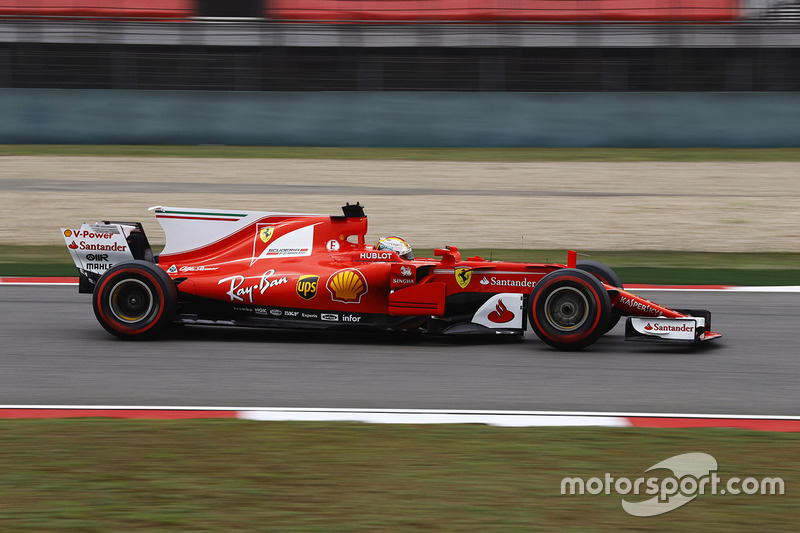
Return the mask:
<svg viewBox="0 0 800 533">
<path fill-rule="evenodd" d="M 739 4 L 739 0 L 0 0 L 0 16 L 160 20 L 197 16 L 263 17 L 348 23 L 718 21 L 737 18 Z"/>
</svg>

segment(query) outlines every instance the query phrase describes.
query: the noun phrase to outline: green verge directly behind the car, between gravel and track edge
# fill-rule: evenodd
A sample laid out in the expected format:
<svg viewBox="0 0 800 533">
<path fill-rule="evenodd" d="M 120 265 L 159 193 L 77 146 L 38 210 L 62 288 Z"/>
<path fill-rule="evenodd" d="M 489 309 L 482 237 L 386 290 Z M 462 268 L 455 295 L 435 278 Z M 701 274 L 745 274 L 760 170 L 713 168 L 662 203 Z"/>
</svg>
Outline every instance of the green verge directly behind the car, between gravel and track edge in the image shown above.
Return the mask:
<svg viewBox="0 0 800 533">
<path fill-rule="evenodd" d="M 461 250 L 462 257 L 565 263 L 566 250 Z M 432 249 L 416 250 L 433 257 Z M 611 266 L 624 283 L 800 285 L 800 253 L 585 252 Z M 0 276 L 77 276 L 59 245 L 0 245 Z"/>
</svg>

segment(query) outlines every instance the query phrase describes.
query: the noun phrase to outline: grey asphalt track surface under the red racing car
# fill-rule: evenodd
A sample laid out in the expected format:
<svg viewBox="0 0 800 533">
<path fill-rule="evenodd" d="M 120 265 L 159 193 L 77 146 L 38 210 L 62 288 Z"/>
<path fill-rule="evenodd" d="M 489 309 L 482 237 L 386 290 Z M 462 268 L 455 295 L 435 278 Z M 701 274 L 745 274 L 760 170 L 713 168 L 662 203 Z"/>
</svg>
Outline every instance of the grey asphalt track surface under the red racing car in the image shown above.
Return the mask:
<svg viewBox="0 0 800 533">
<path fill-rule="evenodd" d="M 0 286 L 0 404 L 797 415 L 800 295 L 637 291 L 707 308 L 701 347 L 588 350 L 406 335 L 185 327 L 117 340 L 74 286 Z"/>
</svg>

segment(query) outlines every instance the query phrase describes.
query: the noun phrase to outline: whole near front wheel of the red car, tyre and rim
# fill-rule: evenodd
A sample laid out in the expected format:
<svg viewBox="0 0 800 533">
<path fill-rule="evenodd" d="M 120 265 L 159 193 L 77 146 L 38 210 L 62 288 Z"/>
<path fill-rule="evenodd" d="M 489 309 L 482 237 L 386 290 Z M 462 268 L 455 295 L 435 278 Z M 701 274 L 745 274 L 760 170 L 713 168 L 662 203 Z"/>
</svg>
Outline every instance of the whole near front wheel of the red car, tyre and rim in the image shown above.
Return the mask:
<svg viewBox="0 0 800 533">
<path fill-rule="evenodd" d="M 607 331 L 611 300 L 603 284 L 583 270 L 565 268 L 543 277 L 528 298 L 531 327 L 560 350 L 580 350 Z"/>
</svg>

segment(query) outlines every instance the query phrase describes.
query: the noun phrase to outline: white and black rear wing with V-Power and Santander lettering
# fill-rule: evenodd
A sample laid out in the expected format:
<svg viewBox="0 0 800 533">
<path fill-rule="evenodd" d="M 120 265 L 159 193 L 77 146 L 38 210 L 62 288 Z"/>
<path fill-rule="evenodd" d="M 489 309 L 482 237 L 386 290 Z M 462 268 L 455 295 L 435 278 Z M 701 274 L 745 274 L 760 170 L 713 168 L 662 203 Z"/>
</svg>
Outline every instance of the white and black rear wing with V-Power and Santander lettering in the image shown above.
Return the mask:
<svg viewBox="0 0 800 533">
<path fill-rule="evenodd" d="M 61 228 L 61 234 L 78 268 L 78 292 L 94 292 L 100 276 L 117 263 L 156 262 L 140 222 L 84 223 L 79 229 Z"/>
</svg>

